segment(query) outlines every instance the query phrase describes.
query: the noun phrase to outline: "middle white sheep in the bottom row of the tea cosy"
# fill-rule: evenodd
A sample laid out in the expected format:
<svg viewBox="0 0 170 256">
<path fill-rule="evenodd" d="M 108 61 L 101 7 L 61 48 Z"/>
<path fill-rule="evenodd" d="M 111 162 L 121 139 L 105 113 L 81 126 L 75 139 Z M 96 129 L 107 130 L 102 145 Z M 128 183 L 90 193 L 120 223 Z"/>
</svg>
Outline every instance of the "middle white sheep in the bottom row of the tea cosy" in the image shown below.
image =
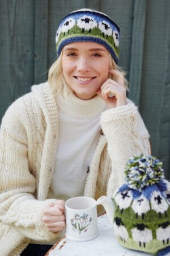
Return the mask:
<svg viewBox="0 0 170 256">
<path fill-rule="evenodd" d="M 152 240 L 152 231 L 145 224 L 136 224 L 135 228 L 131 229 L 131 236 L 140 247 L 145 247 L 146 243 Z"/>
</svg>

